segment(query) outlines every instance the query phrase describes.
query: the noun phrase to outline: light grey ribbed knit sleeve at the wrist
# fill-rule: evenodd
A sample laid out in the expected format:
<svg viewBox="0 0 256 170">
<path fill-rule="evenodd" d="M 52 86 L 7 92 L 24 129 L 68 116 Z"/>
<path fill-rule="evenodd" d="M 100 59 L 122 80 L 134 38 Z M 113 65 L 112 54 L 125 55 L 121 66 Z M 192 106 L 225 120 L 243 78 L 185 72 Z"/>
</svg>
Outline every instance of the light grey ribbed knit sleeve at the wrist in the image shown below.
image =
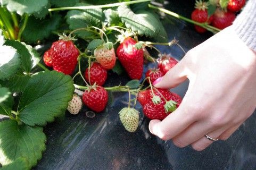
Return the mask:
<svg viewBox="0 0 256 170">
<path fill-rule="evenodd" d="M 256 52 L 256 1 L 249 0 L 232 27 L 247 46 Z"/>
</svg>

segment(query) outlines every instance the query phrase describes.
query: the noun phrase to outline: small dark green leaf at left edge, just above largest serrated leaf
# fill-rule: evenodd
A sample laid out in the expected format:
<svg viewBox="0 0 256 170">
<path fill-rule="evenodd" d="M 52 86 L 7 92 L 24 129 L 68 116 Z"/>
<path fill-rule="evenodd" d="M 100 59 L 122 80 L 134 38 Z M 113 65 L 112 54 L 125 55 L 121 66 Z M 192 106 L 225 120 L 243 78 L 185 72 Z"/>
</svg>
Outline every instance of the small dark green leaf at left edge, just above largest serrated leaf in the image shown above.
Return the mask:
<svg viewBox="0 0 256 170">
<path fill-rule="evenodd" d="M 8 81 L 3 81 L 3 82 L 1 82 L 1 84 L 4 87 L 8 87 L 12 93 L 20 92 L 25 89 L 29 79 L 30 79 L 29 75 L 15 74 Z"/>
</svg>

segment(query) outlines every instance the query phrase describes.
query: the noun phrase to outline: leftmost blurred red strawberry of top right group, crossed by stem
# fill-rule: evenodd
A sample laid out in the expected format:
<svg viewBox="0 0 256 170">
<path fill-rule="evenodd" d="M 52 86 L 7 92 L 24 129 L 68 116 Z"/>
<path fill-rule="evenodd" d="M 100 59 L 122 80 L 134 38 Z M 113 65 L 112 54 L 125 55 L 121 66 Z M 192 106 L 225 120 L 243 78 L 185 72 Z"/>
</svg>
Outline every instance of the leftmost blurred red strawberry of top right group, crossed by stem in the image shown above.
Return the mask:
<svg viewBox="0 0 256 170">
<path fill-rule="evenodd" d="M 191 19 L 193 21 L 196 22 L 207 22 L 208 20 L 208 12 L 207 12 L 207 8 L 208 8 L 208 4 L 205 2 L 200 1 L 196 1 L 195 2 L 195 10 L 192 12 L 191 14 Z M 194 25 L 195 26 L 195 30 L 197 32 L 203 33 L 206 31 L 206 29 L 198 26 L 198 25 Z"/>
</svg>

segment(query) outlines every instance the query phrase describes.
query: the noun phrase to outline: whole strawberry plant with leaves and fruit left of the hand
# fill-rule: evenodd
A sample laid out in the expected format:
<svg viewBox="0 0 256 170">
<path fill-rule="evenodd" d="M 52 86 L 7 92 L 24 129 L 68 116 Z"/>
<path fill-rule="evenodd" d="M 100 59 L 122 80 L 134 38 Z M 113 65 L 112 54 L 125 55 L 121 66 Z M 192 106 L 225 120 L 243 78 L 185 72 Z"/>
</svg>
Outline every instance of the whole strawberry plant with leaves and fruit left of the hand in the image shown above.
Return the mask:
<svg viewBox="0 0 256 170">
<path fill-rule="evenodd" d="M 3 169 L 36 166 L 46 149 L 44 126 L 65 111 L 78 114 L 81 107 L 100 114 L 108 105 L 108 91 L 129 94 L 128 106 L 119 112 L 129 132 L 139 126 L 137 100 L 145 116 L 161 120 L 181 103 L 176 94 L 152 86 L 152 81 L 178 63 L 154 45 L 178 44 L 177 40 L 168 43 L 150 0 L 110 2 L 0 1 Z M 42 53 L 37 50 L 44 46 Z M 149 49 L 161 57 L 151 56 Z M 155 69 L 149 69 L 142 79 L 145 60 L 154 62 Z M 126 72 L 133 80 L 103 87 L 109 72 Z"/>
</svg>

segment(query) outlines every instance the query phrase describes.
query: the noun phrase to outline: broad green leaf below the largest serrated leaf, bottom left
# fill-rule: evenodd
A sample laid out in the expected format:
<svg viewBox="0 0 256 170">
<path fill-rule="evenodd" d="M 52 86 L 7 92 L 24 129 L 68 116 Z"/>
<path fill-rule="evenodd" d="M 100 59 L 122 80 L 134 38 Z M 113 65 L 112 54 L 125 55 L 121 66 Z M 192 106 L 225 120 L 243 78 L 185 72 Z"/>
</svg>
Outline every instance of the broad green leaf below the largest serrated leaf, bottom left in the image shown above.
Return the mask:
<svg viewBox="0 0 256 170">
<path fill-rule="evenodd" d="M 14 120 L 0 122 L 0 163 L 5 166 L 19 157 L 35 166 L 45 150 L 46 136 L 41 127 L 18 125 Z"/>
</svg>

